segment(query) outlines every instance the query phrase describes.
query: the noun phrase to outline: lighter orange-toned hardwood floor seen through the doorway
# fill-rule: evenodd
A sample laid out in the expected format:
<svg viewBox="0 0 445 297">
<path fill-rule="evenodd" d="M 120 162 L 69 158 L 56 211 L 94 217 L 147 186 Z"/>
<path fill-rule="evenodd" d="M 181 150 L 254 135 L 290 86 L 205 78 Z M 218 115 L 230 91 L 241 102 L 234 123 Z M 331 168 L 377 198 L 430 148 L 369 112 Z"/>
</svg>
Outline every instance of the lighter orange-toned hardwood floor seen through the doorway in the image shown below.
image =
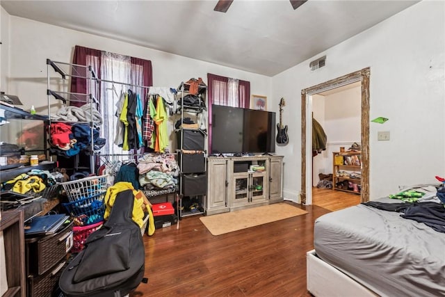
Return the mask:
<svg viewBox="0 0 445 297">
<path fill-rule="evenodd" d="M 360 203 L 360 195 L 333 191 L 330 188 L 312 188 L 312 204 L 336 211 Z"/>
</svg>

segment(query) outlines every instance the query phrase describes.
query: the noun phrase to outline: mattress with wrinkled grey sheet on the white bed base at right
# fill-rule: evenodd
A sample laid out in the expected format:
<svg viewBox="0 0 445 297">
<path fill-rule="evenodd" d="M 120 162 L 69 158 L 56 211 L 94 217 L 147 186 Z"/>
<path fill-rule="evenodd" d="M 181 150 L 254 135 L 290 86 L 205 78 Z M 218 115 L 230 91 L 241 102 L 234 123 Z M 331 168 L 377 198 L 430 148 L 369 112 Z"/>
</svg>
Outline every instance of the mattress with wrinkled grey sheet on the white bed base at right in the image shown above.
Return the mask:
<svg viewBox="0 0 445 297">
<path fill-rule="evenodd" d="M 314 247 L 381 296 L 445 296 L 445 233 L 399 213 L 359 204 L 325 214 L 315 222 Z"/>
</svg>

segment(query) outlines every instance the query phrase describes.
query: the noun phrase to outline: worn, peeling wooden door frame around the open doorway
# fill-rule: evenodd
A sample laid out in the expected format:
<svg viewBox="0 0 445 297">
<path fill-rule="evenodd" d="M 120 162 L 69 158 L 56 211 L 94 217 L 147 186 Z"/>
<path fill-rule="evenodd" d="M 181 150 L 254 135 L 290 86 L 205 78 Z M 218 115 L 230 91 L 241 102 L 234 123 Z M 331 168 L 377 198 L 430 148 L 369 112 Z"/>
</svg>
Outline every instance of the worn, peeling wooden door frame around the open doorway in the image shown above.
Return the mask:
<svg viewBox="0 0 445 297">
<path fill-rule="evenodd" d="M 361 82 L 362 202 L 369 201 L 369 67 L 301 90 L 301 204 L 312 204 L 312 95 Z M 309 122 L 310 121 L 310 122 Z M 334 172 L 332 172 L 334 174 Z"/>
</svg>

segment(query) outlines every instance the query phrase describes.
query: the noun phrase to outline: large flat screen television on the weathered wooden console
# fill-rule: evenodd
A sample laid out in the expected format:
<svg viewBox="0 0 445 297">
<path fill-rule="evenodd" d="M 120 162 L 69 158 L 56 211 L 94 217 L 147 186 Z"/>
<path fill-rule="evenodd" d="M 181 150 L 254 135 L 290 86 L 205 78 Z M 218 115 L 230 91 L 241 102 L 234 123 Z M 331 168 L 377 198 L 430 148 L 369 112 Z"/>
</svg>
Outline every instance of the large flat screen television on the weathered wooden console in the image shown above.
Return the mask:
<svg viewBox="0 0 445 297">
<path fill-rule="evenodd" d="M 212 104 L 211 154 L 275 152 L 275 113 Z"/>
</svg>

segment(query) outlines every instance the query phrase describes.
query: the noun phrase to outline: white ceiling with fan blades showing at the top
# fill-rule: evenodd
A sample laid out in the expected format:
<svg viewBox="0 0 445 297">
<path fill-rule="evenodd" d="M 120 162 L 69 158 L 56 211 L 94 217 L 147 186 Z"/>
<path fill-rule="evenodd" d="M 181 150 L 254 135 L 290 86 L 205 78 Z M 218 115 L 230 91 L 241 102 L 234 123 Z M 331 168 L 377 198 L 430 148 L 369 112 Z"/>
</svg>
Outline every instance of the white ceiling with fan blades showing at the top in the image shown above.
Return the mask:
<svg viewBox="0 0 445 297">
<path fill-rule="evenodd" d="M 5 1 L 10 14 L 273 76 L 418 1 Z M 308 66 L 309 67 L 309 66 Z"/>
</svg>

